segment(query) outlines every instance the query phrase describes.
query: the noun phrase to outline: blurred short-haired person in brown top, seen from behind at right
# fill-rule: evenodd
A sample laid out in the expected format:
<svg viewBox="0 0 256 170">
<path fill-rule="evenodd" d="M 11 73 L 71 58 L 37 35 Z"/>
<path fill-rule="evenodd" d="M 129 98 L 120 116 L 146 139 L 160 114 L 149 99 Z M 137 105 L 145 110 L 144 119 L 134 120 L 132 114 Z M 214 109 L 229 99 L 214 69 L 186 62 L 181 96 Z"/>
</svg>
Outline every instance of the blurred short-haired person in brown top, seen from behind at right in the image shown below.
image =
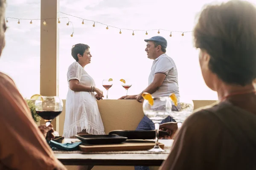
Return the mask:
<svg viewBox="0 0 256 170">
<path fill-rule="evenodd" d="M 219 103 L 186 119 L 160 170 L 255 170 L 255 6 L 240 0 L 207 6 L 194 38 L 204 81 Z"/>
</svg>

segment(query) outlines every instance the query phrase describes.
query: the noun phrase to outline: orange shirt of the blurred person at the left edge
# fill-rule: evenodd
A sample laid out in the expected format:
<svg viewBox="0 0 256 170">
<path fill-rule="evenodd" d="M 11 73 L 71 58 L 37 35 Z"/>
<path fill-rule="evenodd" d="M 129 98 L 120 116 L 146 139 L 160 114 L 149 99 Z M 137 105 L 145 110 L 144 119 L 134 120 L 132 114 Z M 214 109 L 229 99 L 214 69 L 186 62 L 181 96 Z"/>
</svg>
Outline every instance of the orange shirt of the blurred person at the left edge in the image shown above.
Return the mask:
<svg viewBox="0 0 256 170">
<path fill-rule="evenodd" d="M 53 170 L 57 162 L 15 83 L 0 72 L 0 170 Z"/>
</svg>

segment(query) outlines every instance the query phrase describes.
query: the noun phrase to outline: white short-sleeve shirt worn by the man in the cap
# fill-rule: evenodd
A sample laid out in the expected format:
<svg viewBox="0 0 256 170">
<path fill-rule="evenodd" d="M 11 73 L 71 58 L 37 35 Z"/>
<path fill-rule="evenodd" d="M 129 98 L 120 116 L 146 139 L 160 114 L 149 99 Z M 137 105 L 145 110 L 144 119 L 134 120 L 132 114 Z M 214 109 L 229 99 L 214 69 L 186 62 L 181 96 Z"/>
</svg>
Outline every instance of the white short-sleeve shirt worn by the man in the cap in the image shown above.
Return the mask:
<svg viewBox="0 0 256 170">
<path fill-rule="evenodd" d="M 173 59 L 166 54 L 162 54 L 156 59 L 154 59 L 151 72 L 148 77 L 148 85 L 150 85 L 154 80 L 154 75 L 157 73 L 165 74 L 166 77 L 163 80 L 160 88 L 155 91 L 152 96 L 169 96 L 172 93 L 179 95 L 179 86 L 178 86 L 178 72 Z"/>
</svg>

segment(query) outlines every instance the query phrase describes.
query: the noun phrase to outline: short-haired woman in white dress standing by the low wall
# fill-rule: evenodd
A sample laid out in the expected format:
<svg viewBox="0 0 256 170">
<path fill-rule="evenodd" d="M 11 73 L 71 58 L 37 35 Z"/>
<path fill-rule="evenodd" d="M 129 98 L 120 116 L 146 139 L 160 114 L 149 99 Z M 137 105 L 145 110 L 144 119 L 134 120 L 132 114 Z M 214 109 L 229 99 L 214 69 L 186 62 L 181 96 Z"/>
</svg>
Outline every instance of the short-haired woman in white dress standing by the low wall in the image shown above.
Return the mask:
<svg viewBox="0 0 256 170">
<path fill-rule="evenodd" d="M 85 44 L 76 44 L 71 51 L 76 61 L 67 71 L 69 89 L 63 136 L 73 138 L 77 134 L 105 134 L 96 101 L 104 97 L 103 92 L 95 87 L 93 78 L 84 70 L 84 66 L 91 61 L 90 47 Z"/>
</svg>

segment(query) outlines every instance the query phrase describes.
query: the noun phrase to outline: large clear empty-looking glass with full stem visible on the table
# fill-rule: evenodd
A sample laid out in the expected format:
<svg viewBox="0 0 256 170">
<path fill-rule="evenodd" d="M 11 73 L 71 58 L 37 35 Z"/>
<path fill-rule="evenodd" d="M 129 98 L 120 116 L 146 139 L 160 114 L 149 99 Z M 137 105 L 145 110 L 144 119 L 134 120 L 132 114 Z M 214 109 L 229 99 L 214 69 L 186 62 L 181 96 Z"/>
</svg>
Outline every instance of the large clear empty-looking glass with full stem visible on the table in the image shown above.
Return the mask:
<svg viewBox="0 0 256 170">
<path fill-rule="evenodd" d="M 172 111 L 172 102 L 169 96 L 154 98 L 153 105 L 150 105 L 148 100 L 143 101 L 143 112 L 155 125 L 156 130 L 156 142 L 152 149 L 148 150 L 149 152 L 165 152 L 162 148 L 159 147 L 158 138 L 159 138 L 159 124 L 169 116 L 169 112 Z"/>
</svg>

